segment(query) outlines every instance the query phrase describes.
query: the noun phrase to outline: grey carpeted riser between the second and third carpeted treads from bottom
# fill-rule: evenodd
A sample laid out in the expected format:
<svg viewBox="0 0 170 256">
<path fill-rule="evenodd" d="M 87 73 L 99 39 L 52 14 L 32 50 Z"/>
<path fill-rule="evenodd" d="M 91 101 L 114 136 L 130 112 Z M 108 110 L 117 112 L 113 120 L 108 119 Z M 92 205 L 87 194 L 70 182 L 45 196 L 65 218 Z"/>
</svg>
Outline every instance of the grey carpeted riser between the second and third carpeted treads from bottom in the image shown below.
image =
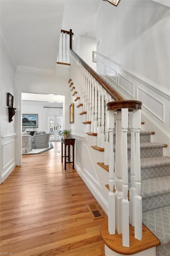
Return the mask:
<svg viewBox="0 0 170 256">
<path fill-rule="evenodd" d="M 141 180 L 170 175 L 170 166 L 141 169 Z M 128 170 L 128 182 L 130 182 L 130 170 Z"/>
</svg>

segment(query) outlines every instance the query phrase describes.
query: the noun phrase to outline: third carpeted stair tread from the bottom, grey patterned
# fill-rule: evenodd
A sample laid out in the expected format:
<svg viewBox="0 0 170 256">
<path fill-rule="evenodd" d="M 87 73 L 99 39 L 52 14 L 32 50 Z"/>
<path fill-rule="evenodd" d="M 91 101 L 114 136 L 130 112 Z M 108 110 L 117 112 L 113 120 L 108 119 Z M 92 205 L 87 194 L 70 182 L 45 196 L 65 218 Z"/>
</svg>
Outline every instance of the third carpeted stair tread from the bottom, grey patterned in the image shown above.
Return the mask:
<svg viewBox="0 0 170 256">
<path fill-rule="evenodd" d="M 165 156 L 148 157 L 140 159 L 140 169 L 149 169 L 155 167 L 170 166 L 170 158 Z M 130 170 L 130 159 L 128 160 L 128 169 Z"/>
</svg>

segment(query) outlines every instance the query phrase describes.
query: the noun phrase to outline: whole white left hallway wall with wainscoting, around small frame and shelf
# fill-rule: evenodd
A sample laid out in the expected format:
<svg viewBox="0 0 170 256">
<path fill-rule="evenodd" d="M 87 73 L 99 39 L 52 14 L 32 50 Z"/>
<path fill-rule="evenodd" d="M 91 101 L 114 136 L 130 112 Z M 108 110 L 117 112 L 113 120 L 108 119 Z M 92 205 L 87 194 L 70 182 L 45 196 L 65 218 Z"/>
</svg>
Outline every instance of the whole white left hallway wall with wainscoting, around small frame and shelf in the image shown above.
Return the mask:
<svg viewBox="0 0 170 256">
<path fill-rule="evenodd" d="M 16 107 L 15 101 L 15 71 L 7 60 L 4 52 L 1 50 L 1 150 L 0 150 L 0 168 L 1 168 L 1 182 L 15 168 L 15 116 L 13 121 L 9 123 L 9 114 L 7 107 L 7 92 L 14 96 L 14 107 Z"/>
</svg>

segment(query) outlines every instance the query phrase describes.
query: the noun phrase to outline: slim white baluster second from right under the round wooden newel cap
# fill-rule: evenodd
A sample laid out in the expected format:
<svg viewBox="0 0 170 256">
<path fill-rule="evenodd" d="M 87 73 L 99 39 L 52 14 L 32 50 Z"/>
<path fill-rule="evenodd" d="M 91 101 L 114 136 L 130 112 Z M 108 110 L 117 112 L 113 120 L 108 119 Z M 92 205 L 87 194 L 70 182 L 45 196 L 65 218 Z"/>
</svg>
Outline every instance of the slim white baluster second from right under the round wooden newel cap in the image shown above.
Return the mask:
<svg viewBox="0 0 170 256">
<path fill-rule="evenodd" d="M 135 196 L 135 136 L 134 136 L 134 115 L 133 111 L 129 112 L 129 128 L 131 135 L 130 145 L 130 183 L 129 189 L 129 222 L 134 226 L 134 196 Z"/>
</svg>

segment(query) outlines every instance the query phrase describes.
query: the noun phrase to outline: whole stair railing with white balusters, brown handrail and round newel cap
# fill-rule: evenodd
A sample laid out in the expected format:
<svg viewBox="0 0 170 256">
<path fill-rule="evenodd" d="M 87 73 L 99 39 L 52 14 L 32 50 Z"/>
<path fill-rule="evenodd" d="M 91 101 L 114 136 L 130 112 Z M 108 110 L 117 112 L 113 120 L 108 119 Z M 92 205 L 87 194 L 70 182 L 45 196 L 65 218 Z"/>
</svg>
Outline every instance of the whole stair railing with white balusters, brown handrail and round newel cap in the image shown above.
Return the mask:
<svg viewBox="0 0 170 256">
<path fill-rule="evenodd" d="M 89 132 L 97 133 L 97 147 L 104 148 L 104 164 L 109 165 L 108 230 L 110 234 L 122 233 L 123 246 L 129 247 L 129 223 L 134 226 L 135 238 L 142 238 L 139 139 L 142 103 L 124 100 L 73 51 L 72 30 L 65 33 L 69 35 L 70 89 L 77 107 L 86 114 Z"/>
</svg>

